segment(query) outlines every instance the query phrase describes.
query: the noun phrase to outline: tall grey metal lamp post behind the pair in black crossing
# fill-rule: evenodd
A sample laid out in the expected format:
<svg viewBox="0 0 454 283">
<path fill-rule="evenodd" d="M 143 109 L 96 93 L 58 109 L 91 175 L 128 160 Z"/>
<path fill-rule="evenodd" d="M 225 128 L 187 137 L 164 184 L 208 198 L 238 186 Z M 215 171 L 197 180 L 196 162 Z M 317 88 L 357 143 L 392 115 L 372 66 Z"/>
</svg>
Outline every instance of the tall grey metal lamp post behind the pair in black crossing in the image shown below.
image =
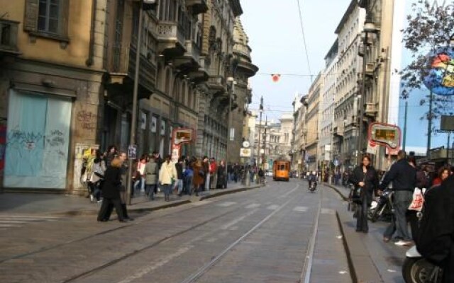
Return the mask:
<svg viewBox="0 0 454 283">
<path fill-rule="evenodd" d="M 133 88 L 133 113 L 131 117 L 131 133 L 129 144 L 135 144 L 135 127 L 137 125 L 137 98 L 139 88 L 139 64 L 140 64 L 140 45 L 142 44 L 142 22 L 143 22 L 143 0 L 138 2 L 139 5 L 139 25 L 137 42 L 135 45 L 135 71 L 134 71 L 134 88 Z M 126 183 L 127 201 L 128 205 L 131 205 L 131 176 L 133 175 L 133 158 L 128 158 L 128 182 Z"/>
</svg>

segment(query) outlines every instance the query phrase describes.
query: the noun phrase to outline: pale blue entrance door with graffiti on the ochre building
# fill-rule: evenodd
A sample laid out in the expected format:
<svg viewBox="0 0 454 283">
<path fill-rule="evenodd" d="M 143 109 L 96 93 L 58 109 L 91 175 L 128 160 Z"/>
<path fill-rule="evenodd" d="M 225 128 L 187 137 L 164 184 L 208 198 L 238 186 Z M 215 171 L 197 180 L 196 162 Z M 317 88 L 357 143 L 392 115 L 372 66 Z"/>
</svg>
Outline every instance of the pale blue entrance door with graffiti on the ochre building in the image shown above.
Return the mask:
<svg viewBox="0 0 454 283">
<path fill-rule="evenodd" d="M 65 189 L 70 99 L 10 91 L 5 187 Z"/>
</svg>

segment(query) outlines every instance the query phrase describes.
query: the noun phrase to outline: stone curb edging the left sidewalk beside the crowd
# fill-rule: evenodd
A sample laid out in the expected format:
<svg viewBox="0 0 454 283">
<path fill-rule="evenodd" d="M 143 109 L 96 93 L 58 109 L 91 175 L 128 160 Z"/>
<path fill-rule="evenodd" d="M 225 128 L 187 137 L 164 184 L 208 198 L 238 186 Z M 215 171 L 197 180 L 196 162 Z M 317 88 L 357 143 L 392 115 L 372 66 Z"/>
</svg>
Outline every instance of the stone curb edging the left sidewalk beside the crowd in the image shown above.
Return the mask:
<svg viewBox="0 0 454 283">
<path fill-rule="evenodd" d="M 248 190 L 254 190 L 254 189 L 257 189 L 259 187 L 262 187 L 262 185 L 255 185 L 255 186 L 252 186 L 252 187 L 239 187 L 238 189 L 221 191 L 221 192 L 215 192 L 212 195 L 206 195 L 206 196 L 200 197 L 198 200 L 180 200 L 180 201 L 177 200 L 177 201 L 174 201 L 174 202 L 169 202 L 167 204 L 162 204 L 162 205 L 157 206 L 157 207 L 135 208 L 135 207 L 128 206 L 128 212 L 135 212 L 135 213 L 154 212 L 154 211 L 161 210 L 161 209 L 167 209 L 167 208 L 171 208 L 171 207 L 179 207 L 181 205 L 189 204 L 189 203 L 192 203 L 192 202 L 200 202 L 202 200 L 207 200 L 207 199 L 211 199 L 211 198 L 214 198 L 214 197 L 221 197 L 222 195 L 231 195 L 231 194 L 234 194 L 236 192 L 245 192 L 245 191 L 248 191 Z M 47 215 L 57 215 L 57 216 L 84 216 L 84 215 L 98 214 L 98 210 L 99 209 L 94 209 L 94 210 L 70 210 L 70 211 L 67 211 L 67 212 L 48 212 L 48 213 L 45 213 L 45 214 L 47 214 Z"/>
</svg>

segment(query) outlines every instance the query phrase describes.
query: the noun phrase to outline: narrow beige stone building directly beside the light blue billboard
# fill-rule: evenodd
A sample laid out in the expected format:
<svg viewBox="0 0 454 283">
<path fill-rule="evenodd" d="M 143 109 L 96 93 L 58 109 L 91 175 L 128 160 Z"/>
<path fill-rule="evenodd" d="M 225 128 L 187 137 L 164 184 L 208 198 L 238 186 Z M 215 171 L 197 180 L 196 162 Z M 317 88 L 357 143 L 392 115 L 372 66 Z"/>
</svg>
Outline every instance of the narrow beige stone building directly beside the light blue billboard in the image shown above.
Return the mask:
<svg viewBox="0 0 454 283">
<path fill-rule="evenodd" d="M 399 104 L 399 94 L 390 96 L 392 88 L 391 76 L 392 57 L 398 56 L 399 48 L 393 50 L 393 40 L 395 33 L 400 33 L 399 30 L 394 30 L 394 9 L 399 6 L 396 1 L 392 0 L 360 0 L 359 5 L 365 8 L 365 23 L 362 32 L 362 46 L 359 54 L 365 60 L 365 96 L 362 98 L 362 113 L 364 119 L 362 141 L 360 150 L 366 151 L 367 148 L 367 129 L 372 122 L 396 123 L 399 117 L 398 112 L 389 107 L 395 107 Z M 365 37 L 367 30 L 367 38 Z M 397 35 L 396 38 L 399 38 Z M 396 42 L 397 46 L 401 42 Z M 394 54 L 393 52 L 397 52 Z M 395 56 L 394 56 L 395 55 Z M 394 59 L 394 60 L 396 60 Z M 398 60 L 399 61 L 399 60 Z M 395 83 L 395 82 L 394 82 Z M 377 151 L 373 158 L 376 168 L 386 168 L 385 161 L 386 151 L 383 146 Z"/>
</svg>

